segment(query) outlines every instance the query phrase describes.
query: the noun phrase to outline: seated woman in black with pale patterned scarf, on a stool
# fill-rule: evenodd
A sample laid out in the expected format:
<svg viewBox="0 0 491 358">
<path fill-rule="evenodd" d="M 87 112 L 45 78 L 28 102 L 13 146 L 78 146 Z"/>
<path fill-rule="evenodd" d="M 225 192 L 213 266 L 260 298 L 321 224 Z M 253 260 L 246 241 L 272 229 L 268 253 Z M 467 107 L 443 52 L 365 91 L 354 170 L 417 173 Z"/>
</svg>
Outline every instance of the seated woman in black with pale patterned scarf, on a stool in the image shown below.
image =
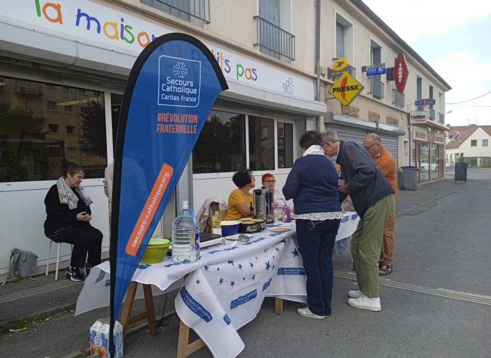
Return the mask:
<svg viewBox="0 0 491 358">
<path fill-rule="evenodd" d="M 44 234 L 55 242 L 67 242 L 73 245 L 70 266 L 66 269 L 66 278 L 83 281 L 80 273 L 85 264 L 85 273 L 101 263 L 102 233 L 92 227 L 91 198 L 82 188 L 83 169 L 77 164 L 68 165 L 46 198 L 46 221 Z M 85 263 L 85 257 L 87 256 Z"/>
</svg>

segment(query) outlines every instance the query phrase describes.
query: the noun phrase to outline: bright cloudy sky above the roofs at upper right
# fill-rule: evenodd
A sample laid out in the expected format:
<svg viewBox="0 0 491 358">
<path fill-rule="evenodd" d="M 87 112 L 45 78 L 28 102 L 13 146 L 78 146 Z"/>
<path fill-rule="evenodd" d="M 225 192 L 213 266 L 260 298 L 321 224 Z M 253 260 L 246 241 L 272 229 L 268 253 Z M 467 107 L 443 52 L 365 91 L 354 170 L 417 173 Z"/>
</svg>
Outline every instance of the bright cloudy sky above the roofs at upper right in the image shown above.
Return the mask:
<svg viewBox="0 0 491 358">
<path fill-rule="evenodd" d="M 491 93 L 449 104 L 491 92 L 491 2 L 362 1 L 452 87 L 445 94 L 447 124 L 491 125 Z"/>
</svg>

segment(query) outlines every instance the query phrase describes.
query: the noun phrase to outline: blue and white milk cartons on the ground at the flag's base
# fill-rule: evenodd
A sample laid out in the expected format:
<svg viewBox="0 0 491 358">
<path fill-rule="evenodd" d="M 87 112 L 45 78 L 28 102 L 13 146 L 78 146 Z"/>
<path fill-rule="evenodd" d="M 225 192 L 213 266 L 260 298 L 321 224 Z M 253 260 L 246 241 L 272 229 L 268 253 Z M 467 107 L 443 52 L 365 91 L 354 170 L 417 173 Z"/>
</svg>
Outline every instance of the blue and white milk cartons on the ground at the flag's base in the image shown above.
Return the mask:
<svg viewBox="0 0 491 358">
<path fill-rule="evenodd" d="M 123 356 L 123 326 L 116 321 L 114 325 L 115 358 Z M 109 353 L 109 319 L 100 318 L 91 327 L 91 358 L 108 358 Z"/>
</svg>

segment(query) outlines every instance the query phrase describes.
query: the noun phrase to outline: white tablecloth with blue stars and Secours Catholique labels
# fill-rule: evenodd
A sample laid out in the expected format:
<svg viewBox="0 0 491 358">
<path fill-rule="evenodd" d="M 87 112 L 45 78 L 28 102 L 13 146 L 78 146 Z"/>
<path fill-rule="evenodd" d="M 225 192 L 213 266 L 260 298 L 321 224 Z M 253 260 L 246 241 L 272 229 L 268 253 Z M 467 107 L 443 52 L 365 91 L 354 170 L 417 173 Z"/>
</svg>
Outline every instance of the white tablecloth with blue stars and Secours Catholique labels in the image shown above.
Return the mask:
<svg viewBox="0 0 491 358">
<path fill-rule="evenodd" d="M 350 236 L 358 215 L 346 213 L 337 239 Z M 295 222 L 269 225 L 248 242 L 227 241 L 200 250 L 196 262 L 180 264 L 166 257 L 138 266 L 132 281 L 152 284 L 154 295 L 179 289 L 175 309 L 180 319 L 216 357 L 235 357 L 244 348 L 237 329 L 252 321 L 264 297 L 306 302 L 305 274 L 295 241 Z M 91 270 L 77 301 L 75 315 L 109 304 L 109 262 Z M 183 277 L 186 276 L 183 282 Z M 137 298 L 143 297 L 137 292 Z M 226 337 L 226 339 L 224 339 Z"/>
</svg>

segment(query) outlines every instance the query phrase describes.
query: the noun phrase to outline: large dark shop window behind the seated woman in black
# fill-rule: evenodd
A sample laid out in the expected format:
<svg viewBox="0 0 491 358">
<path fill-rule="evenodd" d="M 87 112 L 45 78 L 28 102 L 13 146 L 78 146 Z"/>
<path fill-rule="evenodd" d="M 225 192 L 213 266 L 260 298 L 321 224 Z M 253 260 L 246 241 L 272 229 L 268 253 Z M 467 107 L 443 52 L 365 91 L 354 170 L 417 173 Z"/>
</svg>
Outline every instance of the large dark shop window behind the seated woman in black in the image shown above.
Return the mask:
<svg viewBox="0 0 491 358">
<path fill-rule="evenodd" d="M 104 176 L 102 92 L 5 77 L 0 88 L 0 182 L 56 180 L 70 162 Z"/>
</svg>

